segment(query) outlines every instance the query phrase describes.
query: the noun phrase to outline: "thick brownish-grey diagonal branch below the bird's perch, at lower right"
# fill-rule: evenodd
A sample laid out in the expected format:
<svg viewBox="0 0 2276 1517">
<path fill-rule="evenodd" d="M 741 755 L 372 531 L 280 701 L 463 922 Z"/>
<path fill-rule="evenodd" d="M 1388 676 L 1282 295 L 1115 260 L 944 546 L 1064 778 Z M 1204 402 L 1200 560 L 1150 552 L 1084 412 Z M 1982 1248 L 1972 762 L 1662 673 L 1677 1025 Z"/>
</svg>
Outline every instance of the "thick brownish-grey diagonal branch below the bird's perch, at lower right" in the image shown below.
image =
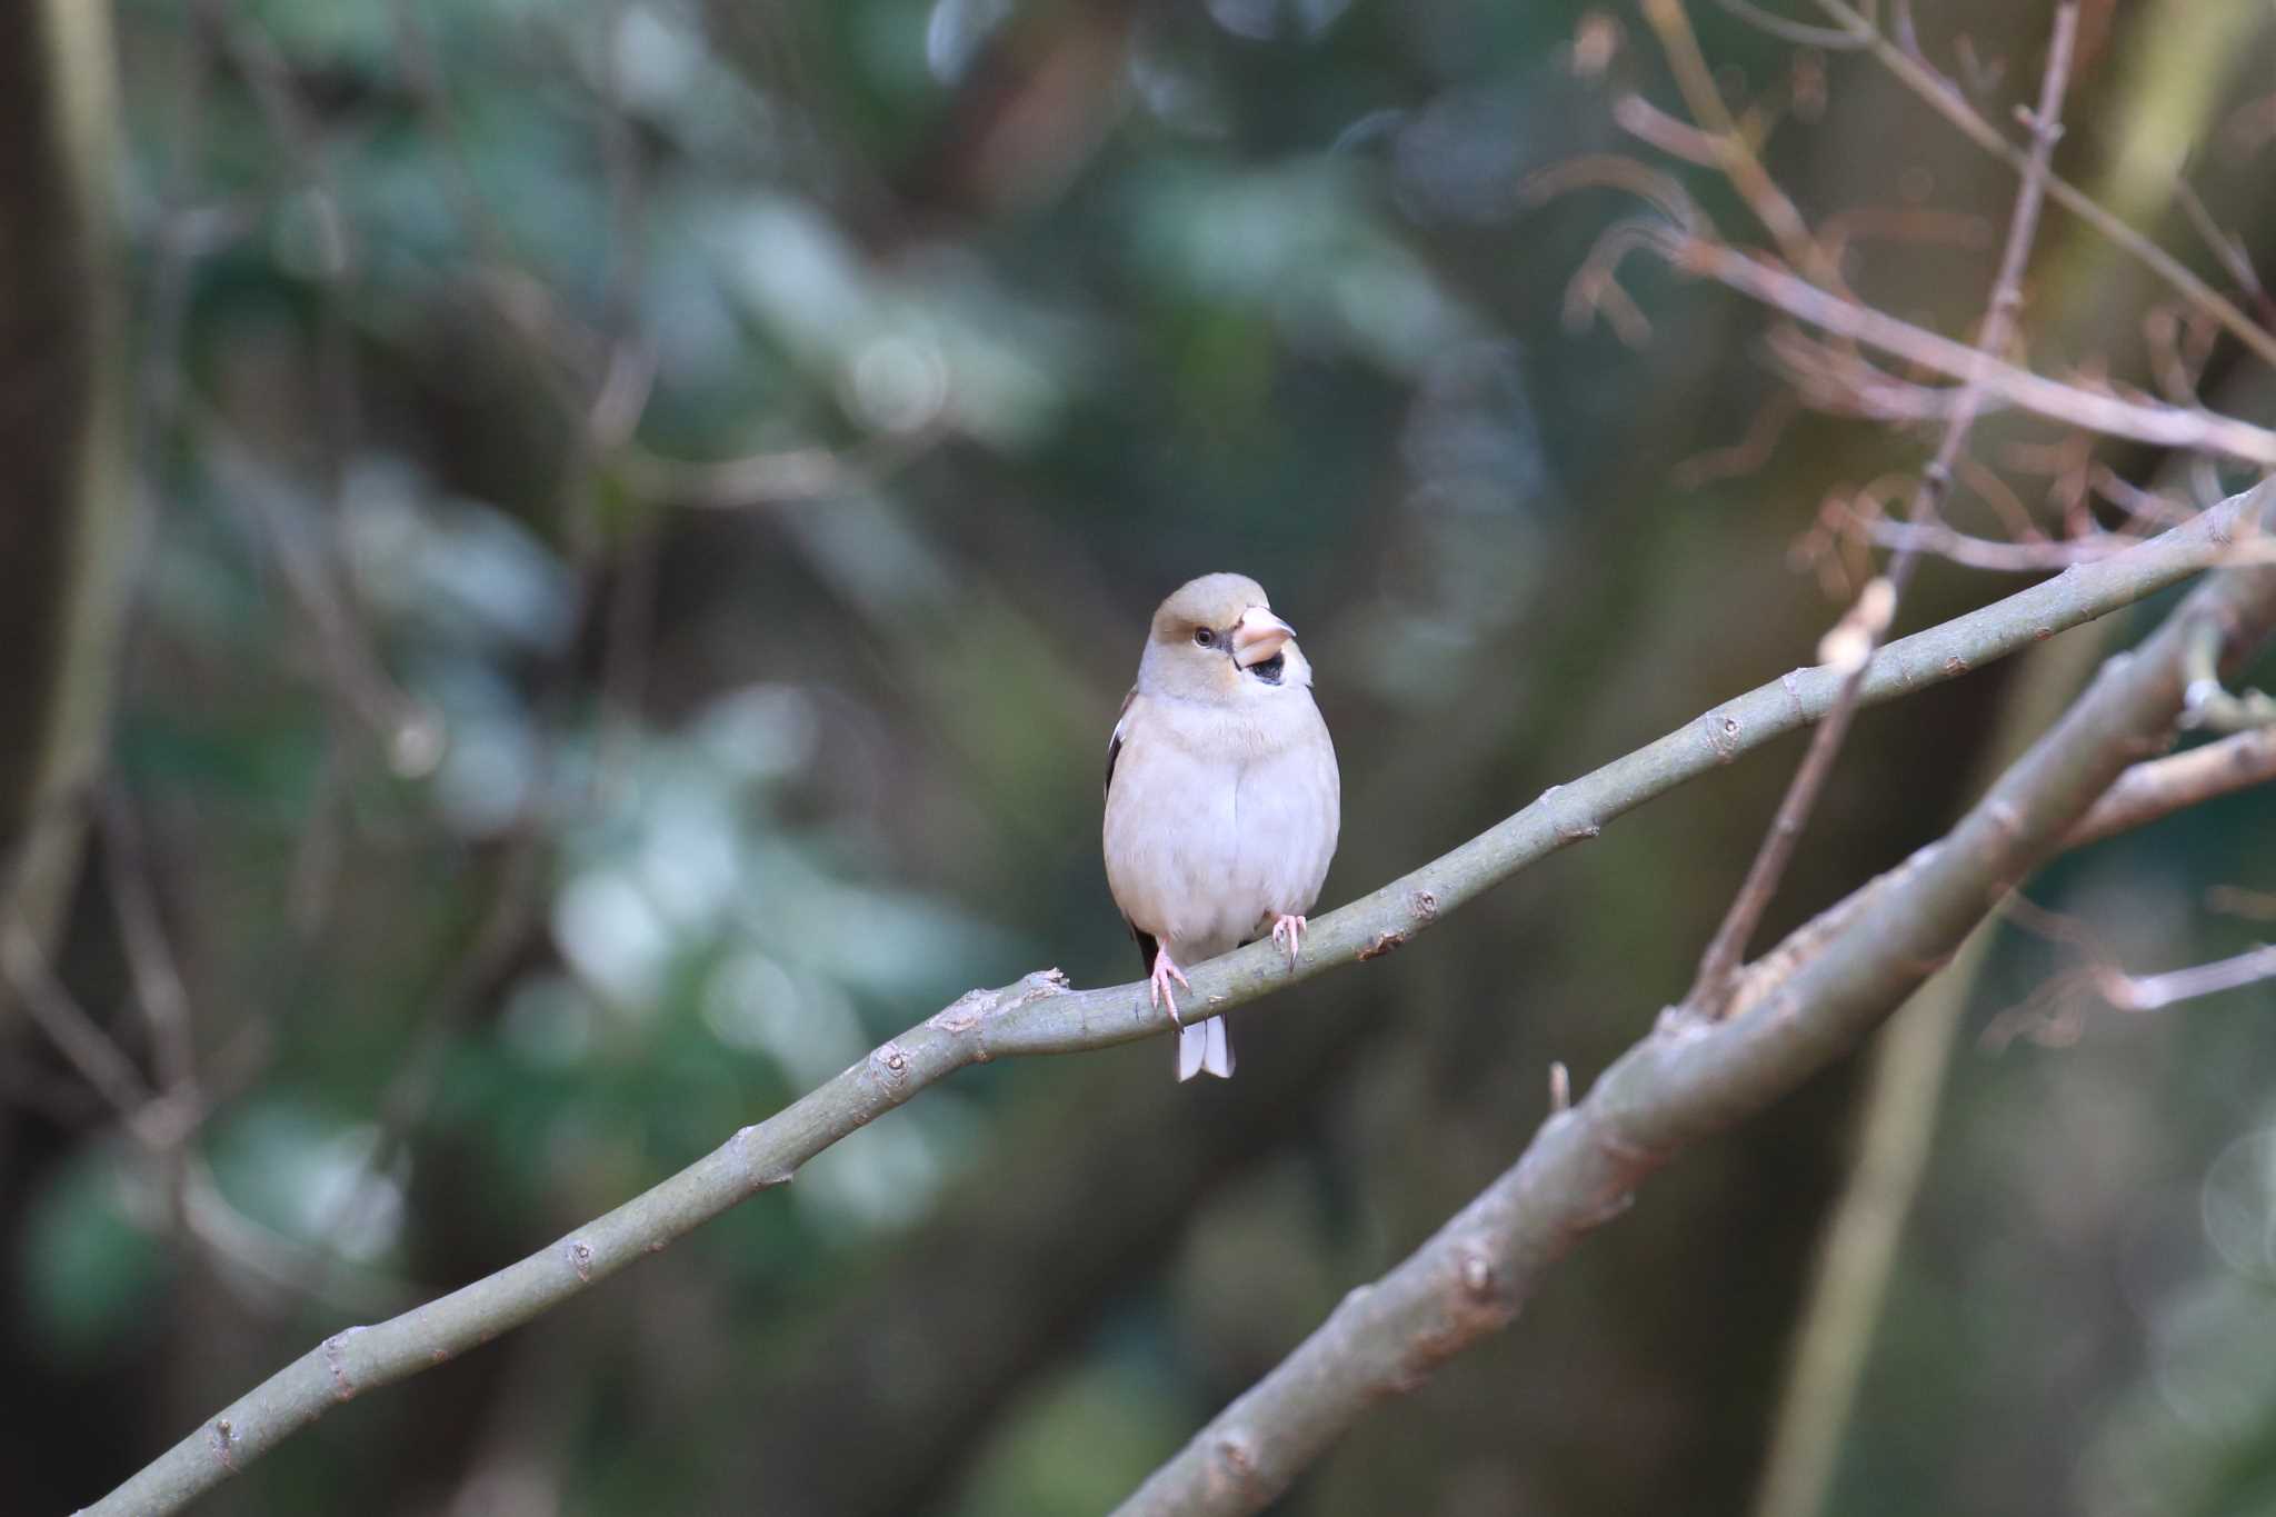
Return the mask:
<svg viewBox="0 0 2276 1517">
<path fill-rule="evenodd" d="M 1730 1019 L 1680 1005 L 1586 1101 L 1552 1114 L 1518 1162 L 1220 1412 L 1120 1510 L 1254 1512 L 1384 1396 L 1504 1328 L 1541 1276 L 1618 1217 L 1684 1146 L 1771 1105 L 1857 1046 L 1935 973 L 2017 880 L 2062 851 L 2128 757 L 2180 714 L 2201 625 L 2251 648 L 2276 623 L 2276 571 L 2203 585 L 1946 835 L 1757 960 Z M 2230 978 L 2240 964 L 2212 967 Z M 2258 969 L 2258 964 L 2253 964 Z M 2212 976 L 2205 976 L 2208 980 Z"/>
</svg>

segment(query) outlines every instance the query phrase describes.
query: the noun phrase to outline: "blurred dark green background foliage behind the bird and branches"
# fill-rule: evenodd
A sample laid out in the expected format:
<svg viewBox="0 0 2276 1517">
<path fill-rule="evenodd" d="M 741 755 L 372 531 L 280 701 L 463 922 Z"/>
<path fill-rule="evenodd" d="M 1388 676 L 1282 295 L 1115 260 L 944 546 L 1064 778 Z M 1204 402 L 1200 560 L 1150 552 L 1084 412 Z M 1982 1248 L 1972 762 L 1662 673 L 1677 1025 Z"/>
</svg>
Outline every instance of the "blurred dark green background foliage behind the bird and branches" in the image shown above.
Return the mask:
<svg viewBox="0 0 2276 1517">
<path fill-rule="evenodd" d="M 1855 287 L 1966 330 L 2012 175 L 1859 55 L 1696 11 L 1775 116 L 1771 171 L 1855 225 Z M 2276 268 L 2276 16 L 2085 11 L 2067 173 L 2221 280 L 2185 180 Z M 1994 121 L 2030 93 L 2046 5 L 1914 14 Z M 1821 498 L 1921 457 L 1805 414 L 1714 466 L 1787 393 L 1766 318 L 1646 262 L 1646 334 L 1566 318 L 1634 205 L 1529 177 L 1650 157 L 1623 91 L 1675 109 L 1627 7 L 114 20 L 141 514 L 116 814 L 52 969 L 162 1067 L 150 898 L 198 1121 L 157 1144 L 175 1203 L 0 1028 L 9 1510 L 93 1499 L 316 1335 L 558 1237 L 972 985 L 1133 978 L 1097 785 L 1184 578 L 1247 571 L 1304 630 L 1334 905 L 1807 662 Z M 2167 300 L 2051 218 L 2032 362 L 2151 384 Z M 2269 416 L 2226 343 L 2203 391 Z M 2083 459 L 2048 441 L 1998 418 L 1976 455 L 2039 509 Z M 1930 564 L 1907 621 L 2005 589 Z M 2032 678 L 2062 675 L 1866 714 L 1768 926 L 1935 835 Z M 1511 1160 L 1550 1060 L 1586 1083 L 1682 992 L 1793 755 L 1245 1014 L 1231 1085 L 1172 1087 L 1145 1044 L 935 1089 L 200 1510 L 1104 1510 Z M 2190 964 L 2265 932 L 2237 912 L 2267 896 L 2205 887 L 2276 889 L 2271 837 L 2249 794 L 2032 889 L 2133 969 Z M 2058 1037 L 1982 1046 L 2067 955 L 2005 928 L 1980 978 L 1834 1510 L 2276 1503 L 2276 998 L 2071 998 Z M 1687 1158 L 1286 1510 L 1743 1510 L 1853 1092 Z"/>
</svg>

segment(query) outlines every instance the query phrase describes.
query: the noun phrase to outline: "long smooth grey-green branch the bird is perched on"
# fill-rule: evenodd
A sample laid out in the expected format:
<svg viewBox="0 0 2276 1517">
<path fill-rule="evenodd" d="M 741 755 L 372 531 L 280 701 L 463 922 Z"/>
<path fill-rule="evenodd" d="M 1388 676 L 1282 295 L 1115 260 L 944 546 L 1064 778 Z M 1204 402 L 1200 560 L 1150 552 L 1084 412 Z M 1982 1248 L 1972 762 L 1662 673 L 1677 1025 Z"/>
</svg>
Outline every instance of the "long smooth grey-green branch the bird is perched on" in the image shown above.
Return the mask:
<svg viewBox="0 0 2276 1517">
<path fill-rule="evenodd" d="M 2276 487 L 2235 496 L 2133 553 L 2076 569 L 1939 628 L 1898 639 L 1873 660 L 1862 698 L 1889 701 L 1925 685 L 1960 678 L 1989 660 L 2028 648 L 2062 628 L 2094 621 L 2215 566 L 2224 559 L 2235 534 L 2244 530 L 2244 521 L 2258 514 L 2269 498 L 2276 498 Z M 2228 587 L 2244 573 L 2260 575 L 2251 580 L 2258 585 L 2271 571 L 2237 571 L 2221 575 L 2217 585 Z M 2196 603 L 2192 600 L 2192 605 Z M 2230 625 L 2237 639 L 2258 625 L 2258 610 L 2251 607 L 2253 614 L 2240 610 Z M 2162 671 L 2164 660 L 2144 657 L 2128 664 L 2128 669 L 2135 666 Z M 1309 953 L 1293 967 L 1272 944 L 1250 944 L 1197 967 L 1193 971 L 1195 994 L 1186 1008 L 1188 1021 L 1197 1014 L 1222 1014 L 1329 969 L 1391 953 L 1491 885 L 1568 844 L 1595 837 L 1605 821 L 1821 719 L 1832 707 L 1844 678 L 1846 671 L 1839 669 L 1793 671 L 1700 714 L 1659 741 L 1573 785 L 1552 787 L 1518 814 L 1452 853 L 1316 919 L 1306 935 Z M 2142 678 L 2128 675 L 2124 689 L 2133 691 L 2139 682 Z M 2180 710 L 2178 680 L 2174 710 Z M 2096 755 L 2098 748 L 2080 744 L 2078 755 L 2069 762 L 2092 762 Z M 2098 776 L 2094 794 L 2114 778 L 2121 762 L 2112 762 L 2110 773 Z M 2085 810 L 2089 801 L 2092 794 L 2080 796 L 2076 810 Z M 2005 816 L 2007 810 L 1998 814 Z M 1941 880 L 1948 867 L 1930 853 L 1914 862 L 1912 873 Z M 1875 942 L 1887 951 L 1919 930 L 1919 921 L 1907 917 L 1900 932 L 1878 930 Z M 1880 958 L 1873 958 L 1873 964 L 1880 964 Z M 1759 998 L 1759 987 L 1757 976 L 1741 992 L 1741 1001 Z M 1741 1021 L 1730 1028 L 1734 1037 L 1716 1033 L 1707 1046 L 1753 1048 L 1762 1026 L 1775 1030 L 1784 1021 L 1782 1017 Z M 232 1401 L 89 1510 L 178 1510 L 335 1403 L 430 1369 L 569 1301 L 594 1280 L 665 1249 L 726 1208 L 774 1185 L 785 1185 L 815 1153 L 967 1064 L 1017 1053 L 1104 1048 L 1168 1030 L 1168 1012 L 1149 1003 L 1140 983 L 1070 992 L 1056 971 L 1038 971 L 1001 989 L 974 989 L 929 1021 L 881 1044 L 863 1062 L 790 1108 L 737 1130 L 703 1160 L 585 1228 L 401 1317 L 369 1328 L 346 1328 L 323 1340 L 253 1392 Z M 1846 1026 L 1828 1037 L 1844 1033 Z M 1862 1028 L 1855 1035 L 1862 1035 Z M 1696 1039 L 1682 1042 L 1689 1046 Z M 1784 1046 L 1784 1042 L 1773 1044 L 1773 1048 Z M 1650 1048 L 1657 1051 L 1659 1044 L 1655 1042 Z M 1657 1053 L 1646 1062 L 1657 1062 Z"/>
</svg>

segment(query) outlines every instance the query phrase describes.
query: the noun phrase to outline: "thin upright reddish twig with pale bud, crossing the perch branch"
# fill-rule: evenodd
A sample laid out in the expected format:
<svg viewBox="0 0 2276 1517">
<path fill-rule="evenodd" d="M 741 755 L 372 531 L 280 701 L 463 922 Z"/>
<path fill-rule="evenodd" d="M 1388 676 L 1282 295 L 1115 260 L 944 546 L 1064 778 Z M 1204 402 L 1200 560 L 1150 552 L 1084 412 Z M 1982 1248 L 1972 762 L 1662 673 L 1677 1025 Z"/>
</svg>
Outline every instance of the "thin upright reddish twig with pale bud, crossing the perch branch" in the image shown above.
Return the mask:
<svg viewBox="0 0 2276 1517">
<path fill-rule="evenodd" d="M 1671 2 L 1661 0 L 1661 5 Z M 2039 230 L 2039 205 L 2046 196 L 2055 139 L 2062 136 L 2062 96 L 2071 80 L 2071 43 L 2076 36 L 2078 0 L 2062 0 L 2055 7 L 2055 34 L 2046 48 L 2039 109 L 2032 114 L 2030 161 L 2023 168 L 2023 189 L 2017 191 L 2014 214 L 2007 221 L 2007 243 L 2001 250 L 1998 275 L 1991 280 L 1991 302 L 1985 307 L 1985 321 L 1976 334 L 1976 359 L 1969 364 L 1960 387 L 1960 405 L 1944 423 L 1944 439 L 1937 444 L 1937 455 L 1921 471 L 1921 480 L 1912 491 L 1912 509 L 1907 514 L 1912 523 L 1928 523 L 1941 516 L 1944 496 L 1953 484 L 1953 464 L 1960 462 L 1960 450 L 1976 428 L 1985 375 L 1996 362 L 1994 355 L 2005 350 L 2014 337 L 2017 312 L 2023 307 L 2023 266 L 2030 262 L 2030 243 Z M 1687 996 L 1689 1003 L 1707 1008 L 1725 1003 L 1732 973 L 1746 955 L 1755 928 L 1762 923 L 1762 912 L 1768 910 L 1771 896 L 1778 894 L 1778 880 L 1787 873 L 1787 862 L 1793 857 L 1796 844 L 1800 844 L 1803 828 L 1809 826 L 1809 814 L 1819 805 L 1819 794 L 1825 789 L 1828 776 L 1832 776 L 1841 741 L 1848 737 L 1850 716 L 1857 714 L 1857 691 L 1864 685 L 1866 664 L 1873 662 L 1873 648 L 1880 646 L 1882 635 L 1896 616 L 1905 587 L 1912 582 L 1914 564 L 1919 564 L 1919 555 L 1910 546 L 1900 548 L 1896 562 L 1889 564 L 1887 578 L 1866 585 L 1864 596 L 1857 600 L 1857 612 L 1828 637 L 1832 644 L 1846 635 L 1846 646 L 1828 662 L 1846 662 L 1850 673 L 1841 682 L 1834 710 L 1809 735 L 1809 751 L 1803 755 L 1800 766 L 1793 771 L 1793 782 L 1787 785 L 1787 794 L 1778 803 L 1771 830 L 1755 851 L 1755 862 L 1748 864 L 1746 880 L 1739 885 L 1737 896 L 1732 896 L 1723 926 L 1716 928 L 1707 942 L 1707 951 L 1700 955 L 1698 978 L 1691 983 L 1691 994 Z"/>
</svg>

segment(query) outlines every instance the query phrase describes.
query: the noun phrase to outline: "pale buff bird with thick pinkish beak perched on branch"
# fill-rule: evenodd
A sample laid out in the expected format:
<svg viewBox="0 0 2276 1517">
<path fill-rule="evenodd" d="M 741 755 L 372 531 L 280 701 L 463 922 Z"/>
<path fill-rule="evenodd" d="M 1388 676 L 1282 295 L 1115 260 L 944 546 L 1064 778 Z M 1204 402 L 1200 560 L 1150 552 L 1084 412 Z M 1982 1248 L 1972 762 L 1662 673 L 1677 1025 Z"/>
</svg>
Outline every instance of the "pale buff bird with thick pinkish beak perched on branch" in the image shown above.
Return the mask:
<svg viewBox="0 0 2276 1517">
<path fill-rule="evenodd" d="M 1177 1023 L 1177 1078 L 1231 1078 L 1224 1019 L 1177 1014 L 1181 964 L 1270 937 L 1295 969 L 1320 898 L 1343 782 L 1311 664 L 1263 587 L 1181 585 L 1147 628 L 1138 682 L 1106 744 L 1106 887 L 1138 939 L 1154 1005 Z"/>
</svg>

